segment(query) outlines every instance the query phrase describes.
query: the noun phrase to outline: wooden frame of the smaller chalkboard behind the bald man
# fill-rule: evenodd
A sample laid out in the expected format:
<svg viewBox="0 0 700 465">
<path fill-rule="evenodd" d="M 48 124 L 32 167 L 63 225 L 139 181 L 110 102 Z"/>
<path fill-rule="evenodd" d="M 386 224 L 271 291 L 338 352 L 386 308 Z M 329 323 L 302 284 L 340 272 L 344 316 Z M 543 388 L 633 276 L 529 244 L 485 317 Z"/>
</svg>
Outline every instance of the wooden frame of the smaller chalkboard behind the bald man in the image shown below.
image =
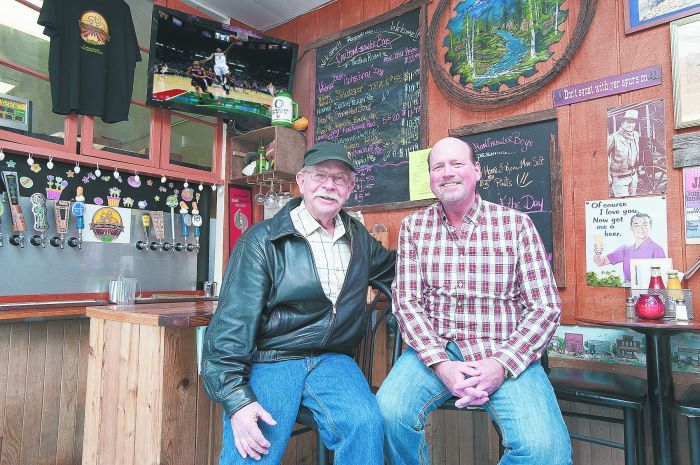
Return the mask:
<svg viewBox="0 0 700 465">
<path fill-rule="evenodd" d="M 485 123 L 470 124 L 460 126 L 448 131 L 451 137 L 470 136 L 473 134 L 485 134 L 490 131 L 506 129 L 516 126 L 526 126 L 528 124 L 542 121 L 557 120 L 557 110 L 542 110 L 525 115 L 513 116 Z M 564 211 L 562 205 L 562 174 L 561 174 L 561 153 L 559 151 L 559 141 L 555 141 L 554 150 L 549 154 L 549 172 L 552 195 L 552 256 L 554 266 L 552 272 L 559 288 L 566 287 L 566 249 L 564 243 Z"/>
</svg>

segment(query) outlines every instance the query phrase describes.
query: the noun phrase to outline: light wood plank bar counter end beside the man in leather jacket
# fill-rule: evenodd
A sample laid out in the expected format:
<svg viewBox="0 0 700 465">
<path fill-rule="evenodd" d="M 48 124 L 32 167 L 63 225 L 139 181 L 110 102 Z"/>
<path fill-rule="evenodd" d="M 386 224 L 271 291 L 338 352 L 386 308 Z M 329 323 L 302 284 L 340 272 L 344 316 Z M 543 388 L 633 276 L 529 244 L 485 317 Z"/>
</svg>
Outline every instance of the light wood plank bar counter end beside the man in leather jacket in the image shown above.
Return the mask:
<svg viewBox="0 0 700 465">
<path fill-rule="evenodd" d="M 213 464 L 221 410 L 197 374 L 216 302 L 87 307 L 83 465 Z"/>
</svg>

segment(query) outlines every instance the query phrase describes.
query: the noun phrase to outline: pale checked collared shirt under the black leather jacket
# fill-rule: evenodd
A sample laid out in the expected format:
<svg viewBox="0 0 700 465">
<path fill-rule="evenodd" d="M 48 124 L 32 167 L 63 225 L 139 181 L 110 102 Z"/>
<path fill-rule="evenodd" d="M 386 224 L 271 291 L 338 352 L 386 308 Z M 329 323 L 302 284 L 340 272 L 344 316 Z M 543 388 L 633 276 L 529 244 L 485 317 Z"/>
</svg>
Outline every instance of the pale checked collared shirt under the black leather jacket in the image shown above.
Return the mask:
<svg viewBox="0 0 700 465">
<path fill-rule="evenodd" d="M 350 238 L 345 234 L 340 215 L 335 216 L 335 230 L 331 236 L 311 216 L 303 201 L 289 214 L 294 228 L 309 242 L 323 292 L 335 305 L 350 265 Z"/>
</svg>

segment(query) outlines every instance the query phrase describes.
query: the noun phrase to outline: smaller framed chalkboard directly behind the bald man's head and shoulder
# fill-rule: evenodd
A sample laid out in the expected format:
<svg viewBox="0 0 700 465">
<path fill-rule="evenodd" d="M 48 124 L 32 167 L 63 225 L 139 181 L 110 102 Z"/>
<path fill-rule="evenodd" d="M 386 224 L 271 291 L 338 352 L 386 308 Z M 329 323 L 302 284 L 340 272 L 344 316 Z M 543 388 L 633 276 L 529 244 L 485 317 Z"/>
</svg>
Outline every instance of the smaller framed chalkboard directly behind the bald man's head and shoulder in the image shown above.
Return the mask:
<svg viewBox="0 0 700 465">
<path fill-rule="evenodd" d="M 563 259 L 555 254 L 555 250 L 563 253 L 563 242 L 561 247 L 556 243 L 561 238 L 555 240 L 561 223 L 557 120 L 540 119 L 550 112 L 535 115 L 468 126 L 450 134 L 471 142 L 476 149 L 481 197 L 527 213 L 542 237 L 550 263 L 556 263 Z M 509 125 L 527 119 L 530 122 L 526 124 Z M 486 130 L 479 131 L 480 127 Z M 563 276 L 557 276 L 557 282 L 563 285 Z"/>
</svg>

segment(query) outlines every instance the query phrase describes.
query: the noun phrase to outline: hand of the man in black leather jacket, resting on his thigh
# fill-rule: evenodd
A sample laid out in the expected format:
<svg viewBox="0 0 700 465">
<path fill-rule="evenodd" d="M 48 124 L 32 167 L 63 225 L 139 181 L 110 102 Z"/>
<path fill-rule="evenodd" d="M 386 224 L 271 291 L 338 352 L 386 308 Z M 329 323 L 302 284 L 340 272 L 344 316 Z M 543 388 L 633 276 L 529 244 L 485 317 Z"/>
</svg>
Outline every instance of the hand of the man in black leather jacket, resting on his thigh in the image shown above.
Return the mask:
<svg viewBox="0 0 700 465">
<path fill-rule="evenodd" d="M 231 429 L 236 449 L 241 457 L 260 460 L 262 455 L 270 453 L 270 441 L 265 439 L 258 427 L 258 419 L 270 426 L 277 422 L 258 402 L 253 402 L 238 410 L 231 416 Z"/>
</svg>

